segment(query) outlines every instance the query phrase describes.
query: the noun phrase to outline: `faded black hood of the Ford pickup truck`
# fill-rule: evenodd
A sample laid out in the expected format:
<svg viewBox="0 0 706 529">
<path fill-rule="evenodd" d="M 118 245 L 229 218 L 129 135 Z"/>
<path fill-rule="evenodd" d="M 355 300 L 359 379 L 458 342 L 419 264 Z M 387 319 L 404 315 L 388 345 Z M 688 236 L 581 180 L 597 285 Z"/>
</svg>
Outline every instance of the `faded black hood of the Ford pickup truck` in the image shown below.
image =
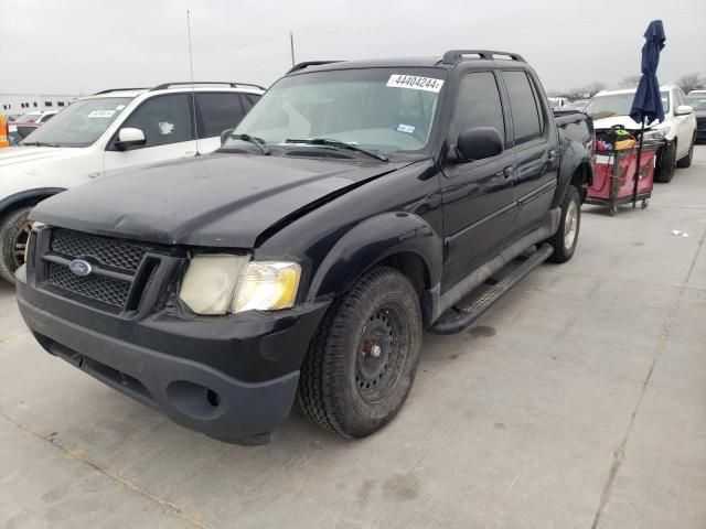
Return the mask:
<svg viewBox="0 0 706 529">
<path fill-rule="evenodd" d="M 408 163 L 216 153 L 116 173 L 42 202 L 31 218 L 156 244 L 254 248 L 268 228 Z"/>
</svg>

